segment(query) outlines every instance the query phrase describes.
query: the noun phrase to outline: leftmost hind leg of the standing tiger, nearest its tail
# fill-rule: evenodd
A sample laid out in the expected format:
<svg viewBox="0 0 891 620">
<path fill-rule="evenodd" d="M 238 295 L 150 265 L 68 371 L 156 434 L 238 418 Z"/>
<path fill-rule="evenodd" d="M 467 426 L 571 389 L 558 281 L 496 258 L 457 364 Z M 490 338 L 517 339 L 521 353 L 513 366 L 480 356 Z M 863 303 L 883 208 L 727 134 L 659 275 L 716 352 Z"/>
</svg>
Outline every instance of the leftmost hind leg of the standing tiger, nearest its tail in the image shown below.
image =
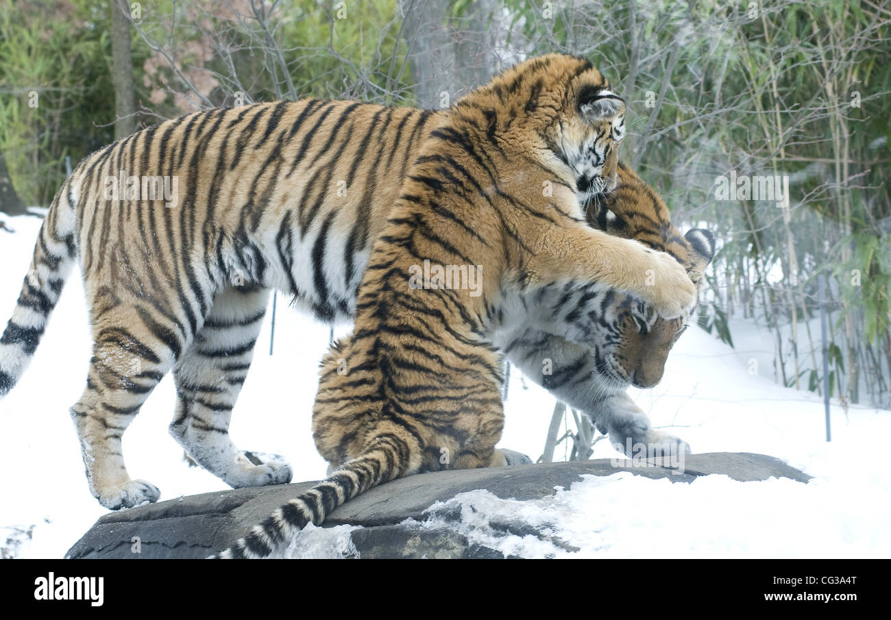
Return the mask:
<svg viewBox="0 0 891 620">
<path fill-rule="evenodd" d="M 156 502 L 160 495 L 155 485 L 130 479 L 121 450 L 121 436 L 175 358 L 172 341 L 155 336 L 172 335 L 168 327 L 135 330 L 143 325 L 140 310 L 117 306 L 95 323 L 86 389 L 69 410 L 90 492 L 110 510 Z"/>
</svg>

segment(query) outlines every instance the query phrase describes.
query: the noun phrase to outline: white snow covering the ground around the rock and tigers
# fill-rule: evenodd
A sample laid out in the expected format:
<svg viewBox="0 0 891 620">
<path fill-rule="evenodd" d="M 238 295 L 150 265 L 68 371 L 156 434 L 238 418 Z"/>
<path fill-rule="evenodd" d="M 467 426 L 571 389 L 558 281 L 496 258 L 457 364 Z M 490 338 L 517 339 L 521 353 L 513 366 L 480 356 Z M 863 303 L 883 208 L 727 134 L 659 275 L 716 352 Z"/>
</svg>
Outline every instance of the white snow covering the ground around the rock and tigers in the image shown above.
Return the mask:
<svg viewBox="0 0 891 620">
<path fill-rule="evenodd" d="M 40 224 L 36 217 L 6 221 L 16 232 L 0 230 L 3 324 L 28 269 Z M 341 327 L 337 333 L 347 330 Z M 327 326 L 280 303 L 270 356 L 267 314 L 254 367 L 233 416 L 236 444 L 285 455 L 295 480 L 319 479 L 325 473 L 313 445 L 310 413 L 316 367 L 328 334 Z M 5 543 L 17 557 L 60 558 L 105 512 L 87 491 L 68 413 L 84 387 L 89 347 L 75 272 L 34 363 L 0 401 L 0 546 L 9 538 L 20 540 L 18 546 Z M 882 437 L 891 435 L 891 412 L 852 406 L 846 413 L 835 403 L 828 444 L 820 397 L 775 385 L 766 364 L 750 374 L 750 357 L 691 328 L 674 347 L 665 379 L 653 389 L 632 390 L 633 396 L 655 426 L 673 428 L 695 452 L 770 454 L 815 477 L 810 484 L 786 479 L 740 483 L 713 476 L 672 485 L 619 473 L 585 479 L 536 502 L 500 500 L 477 491 L 454 500 L 467 508 L 463 531 L 478 542 L 527 557 L 891 555 L 891 469 L 882 447 Z M 158 485 L 162 500 L 226 488 L 217 477 L 184 461 L 182 449 L 167 433 L 173 407 L 168 377 L 124 436 L 130 475 Z M 551 396 L 512 369 L 502 445 L 537 458 L 552 408 Z M 593 458 L 612 456 L 616 453 L 609 442 L 595 445 Z M 565 458 L 562 446 L 556 458 Z M 506 515 L 549 527 L 581 551 L 565 551 L 533 536 L 495 535 L 488 519 Z M 30 536 L 20 534 L 29 530 Z"/>
</svg>

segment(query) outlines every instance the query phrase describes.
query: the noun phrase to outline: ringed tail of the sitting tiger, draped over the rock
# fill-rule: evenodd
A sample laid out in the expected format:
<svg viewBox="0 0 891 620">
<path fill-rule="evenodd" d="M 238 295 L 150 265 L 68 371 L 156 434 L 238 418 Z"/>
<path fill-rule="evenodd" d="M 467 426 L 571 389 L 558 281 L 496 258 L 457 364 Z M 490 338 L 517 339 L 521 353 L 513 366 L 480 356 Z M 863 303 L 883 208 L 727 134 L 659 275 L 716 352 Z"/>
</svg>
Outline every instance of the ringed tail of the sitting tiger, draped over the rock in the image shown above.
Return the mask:
<svg viewBox="0 0 891 620">
<path fill-rule="evenodd" d="M 405 442 L 396 436 L 379 436 L 361 456 L 347 461 L 331 476 L 283 505 L 266 520 L 250 528 L 244 538 L 212 559 L 266 558 L 284 546 L 307 523 L 320 525 L 331 511 L 372 486 L 405 474 Z"/>
</svg>

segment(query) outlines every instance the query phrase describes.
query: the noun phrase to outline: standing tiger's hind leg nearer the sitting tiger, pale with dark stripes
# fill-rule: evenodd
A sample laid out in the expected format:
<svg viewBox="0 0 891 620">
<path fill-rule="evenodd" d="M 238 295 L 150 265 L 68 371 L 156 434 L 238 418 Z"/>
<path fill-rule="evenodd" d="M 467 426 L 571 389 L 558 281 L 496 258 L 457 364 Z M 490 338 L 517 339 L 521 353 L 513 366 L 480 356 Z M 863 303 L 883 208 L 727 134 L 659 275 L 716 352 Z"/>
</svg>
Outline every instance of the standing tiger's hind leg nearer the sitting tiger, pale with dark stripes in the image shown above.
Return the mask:
<svg viewBox="0 0 891 620">
<path fill-rule="evenodd" d="M 201 467 L 233 488 L 290 482 L 290 465 L 274 454 L 241 451 L 229 422 L 254 355 L 269 290 L 229 288 L 176 363 L 176 414 L 170 434 Z"/>
</svg>

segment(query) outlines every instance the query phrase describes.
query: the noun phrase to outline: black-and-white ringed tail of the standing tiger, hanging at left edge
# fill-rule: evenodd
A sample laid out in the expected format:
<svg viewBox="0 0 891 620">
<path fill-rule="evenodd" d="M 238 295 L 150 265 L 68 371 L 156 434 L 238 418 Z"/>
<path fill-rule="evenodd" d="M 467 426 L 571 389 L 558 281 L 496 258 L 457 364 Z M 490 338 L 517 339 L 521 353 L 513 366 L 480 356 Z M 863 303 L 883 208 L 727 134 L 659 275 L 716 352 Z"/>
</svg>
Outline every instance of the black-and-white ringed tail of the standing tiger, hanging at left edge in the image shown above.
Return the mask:
<svg viewBox="0 0 891 620">
<path fill-rule="evenodd" d="M 31 362 L 74 265 L 77 248 L 72 199 L 69 179 L 56 194 L 40 227 L 19 301 L 0 337 L 0 398 L 9 393 Z"/>
</svg>

